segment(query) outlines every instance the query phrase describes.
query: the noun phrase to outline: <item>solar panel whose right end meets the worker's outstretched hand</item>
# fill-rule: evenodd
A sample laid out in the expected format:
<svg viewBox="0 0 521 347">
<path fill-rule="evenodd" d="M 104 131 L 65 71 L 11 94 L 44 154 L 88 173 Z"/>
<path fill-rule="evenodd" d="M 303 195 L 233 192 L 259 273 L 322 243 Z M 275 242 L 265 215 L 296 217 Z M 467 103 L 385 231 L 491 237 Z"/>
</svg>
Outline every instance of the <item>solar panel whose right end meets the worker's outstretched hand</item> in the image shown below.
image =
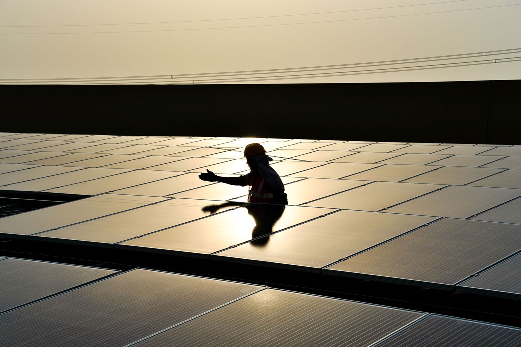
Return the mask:
<svg viewBox="0 0 521 347">
<path fill-rule="evenodd" d="M 205 182 L 199 179 L 199 174 L 184 174 L 179 172 L 179 176 L 162 179 L 161 181 L 142 184 L 132 188 L 118 190 L 117 194 L 143 195 L 143 196 L 167 196 L 181 191 L 204 187 L 214 182 Z M 247 193 L 247 191 L 246 191 Z M 210 197 L 211 198 L 211 197 Z"/>
</svg>

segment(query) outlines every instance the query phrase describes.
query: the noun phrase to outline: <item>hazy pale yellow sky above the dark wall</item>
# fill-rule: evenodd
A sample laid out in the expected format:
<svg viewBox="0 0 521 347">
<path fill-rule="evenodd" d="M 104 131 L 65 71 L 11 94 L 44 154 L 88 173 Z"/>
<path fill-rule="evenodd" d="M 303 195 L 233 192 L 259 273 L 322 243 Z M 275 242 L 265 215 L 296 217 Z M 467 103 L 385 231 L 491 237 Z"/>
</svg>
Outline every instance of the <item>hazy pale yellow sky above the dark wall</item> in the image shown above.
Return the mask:
<svg viewBox="0 0 521 347">
<path fill-rule="evenodd" d="M 239 73 L 144 82 L 521 79 L 521 61 L 490 63 L 521 60 L 521 0 L 0 0 L 0 26 L 0 83 L 222 72 Z M 454 59 L 508 49 L 513 51 Z M 450 55 L 458 56 L 413 65 L 395 61 Z M 382 61 L 393 62 L 316 68 Z M 433 69 L 484 62 L 489 64 Z M 308 67 L 315 68 L 288 70 Z M 243 72 L 272 69 L 282 71 Z M 381 69 L 399 72 L 374 73 Z M 295 75 L 306 78 L 289 79 Z"/>
</svg>

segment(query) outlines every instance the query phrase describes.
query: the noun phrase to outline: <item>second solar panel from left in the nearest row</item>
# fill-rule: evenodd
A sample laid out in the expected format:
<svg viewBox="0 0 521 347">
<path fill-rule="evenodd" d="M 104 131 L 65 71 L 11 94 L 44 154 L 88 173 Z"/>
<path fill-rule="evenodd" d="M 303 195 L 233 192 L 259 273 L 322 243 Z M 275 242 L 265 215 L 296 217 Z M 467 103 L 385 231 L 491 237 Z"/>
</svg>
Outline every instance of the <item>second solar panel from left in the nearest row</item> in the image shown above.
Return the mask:
<svg viewBox="0 0 521 347">
<path fill-rule="evenodd" d="M 122 346 L 259 289 L 138 269 L 0 315 L 0 344 Z"/>
</svg>

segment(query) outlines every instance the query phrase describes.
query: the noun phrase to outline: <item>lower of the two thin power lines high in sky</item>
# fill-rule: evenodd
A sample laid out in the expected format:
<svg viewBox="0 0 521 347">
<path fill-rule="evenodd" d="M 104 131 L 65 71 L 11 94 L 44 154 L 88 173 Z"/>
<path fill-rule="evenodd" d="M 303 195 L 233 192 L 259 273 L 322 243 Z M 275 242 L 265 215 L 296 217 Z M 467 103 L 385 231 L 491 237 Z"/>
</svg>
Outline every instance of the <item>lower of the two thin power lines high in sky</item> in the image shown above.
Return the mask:
<svg viewBox="0 0 521 347">
<path fill-rule="evenodd" d="M 397 16 L 369 17 L 369 18 L 356 18 L 356 19 L 340 19 L 340 20 L 327 20 L 327 21 L 301 22 L 301 23 L 285 23 L 285 24 L 245 25 L 245 26 L 240 26 L 240 27 L 170 29 L 170 30 L 103 31 L 103 32 L 102 31 L 100 31 L 100 32 L 69 32 L 69 33 L 0 33 L 0 35 L 125 34 L 125 33 L 152 33 L 152 32 L 174 32 L 174 31 L 199 31 L 199 30 L 221 30 L 221 29 L 284 27 L 284 26 L 288 26 L 288 25 L 350 22 L 350 21 L 359 21 L 359 20 L 370 20 L 370 19 L 387 19 L 387 18 L 398 18 L 398 17 L 413 17 L 413 16 L 424 16 L 424 15 L 436 15 L 436 14 L 445 14 L 445 13 L 451 13 L 451 12 L 475 11 L 475 10 L 500 8 L 500 7 L 511 7 L 511 6 L 519 6 L 519 5 L 521 5 L 521 4 L 490 6 L 490 7 L 479 7 L 479 8 L 468 8 L 468 9 L 450 10 L 450 11 L 426 12 L 426 13 L 412 14 L 412 15 L 397 15 Z"/>
</svg>

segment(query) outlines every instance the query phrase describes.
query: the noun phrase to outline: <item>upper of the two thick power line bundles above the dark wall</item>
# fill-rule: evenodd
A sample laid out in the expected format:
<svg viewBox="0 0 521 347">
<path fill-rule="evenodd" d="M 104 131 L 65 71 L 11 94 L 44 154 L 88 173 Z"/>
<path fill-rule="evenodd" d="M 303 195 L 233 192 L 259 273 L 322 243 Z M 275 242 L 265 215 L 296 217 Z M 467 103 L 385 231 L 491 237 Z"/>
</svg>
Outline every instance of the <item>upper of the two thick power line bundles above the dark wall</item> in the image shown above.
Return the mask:
<svg viewBox="0 0 521 347">
<path fill-rule="evenodd" d="M 444 60 L 456 60 L 456 59 L 470 59 L 478 57 L 490 57 L 498 55 L 510 55 L 521 53 L 521 48 L 513 49 L 502 49 L 502 50 L 491 50 L 487 52 L 476 52 L 476 53 L 465 53 L 465 54 L 454 54 L 445 56 L 433 56 L 424 58 L 410 58 L 410 59 L 398 59 L 398 60 L 384 60 L 384 61 L 373 61 L 373 62 L 361 62 L 351 63 L 342 65 L 324 65 L 324 66 L 313 66 L 313 67 L 301 67 L 301 68 L 285 68 L 285 69 L 265 69 L 265 70 L 246 70 L 246 71 L 227 71 L 227 72 L 212 72 L 212 73 L 195 73 L 195 74 L 177 74 L 177 75 L 151 75 L 151 76 L 120 76 L 120 77 L 92 77 L 92 78 L 70 78 L 70 79 L 0 79 L 1 82 L 8 83 L 27 83 L 28 81 L 38 81 L 34 83 L 46 83 L 46 82 L 90 82 L 95 80 L 105 81 L 129 81 L 129 80 L 163 80 L 163 79 L 174 79 L 174 78 L 204 78 L 206 76 L 221 77 L 229 75 L 252 75 L 252 74 L 276 74 L 276 73 L 290 73 L 290 72 L 309 72 L 309 71 L 325 71 L 325 70 L 337 70 L 337 69 L 352 69 L 356 67 L 378 67 L 378 66 L 389 66 L 389 65 L 401 65 L 411 63 L 423 63 L 432 61 L 444 61 Z"/>
</svg>

